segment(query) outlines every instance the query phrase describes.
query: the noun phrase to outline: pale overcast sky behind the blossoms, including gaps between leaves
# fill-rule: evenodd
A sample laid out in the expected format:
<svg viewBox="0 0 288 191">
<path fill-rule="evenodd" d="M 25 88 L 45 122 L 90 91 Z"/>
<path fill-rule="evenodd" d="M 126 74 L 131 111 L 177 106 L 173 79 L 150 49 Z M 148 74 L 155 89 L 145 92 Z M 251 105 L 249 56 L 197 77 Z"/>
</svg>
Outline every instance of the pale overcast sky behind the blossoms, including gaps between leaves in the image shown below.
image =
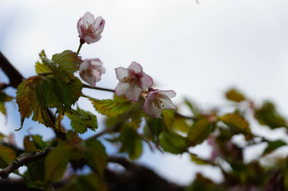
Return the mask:
<svg viewBox="0 0 288 191">
<path fill-rule="evenodd" d="M 176 91 L 176 105 L 189 97 L 204 109 L 221 107 L 227 103 L 224 92 L 236 87 L 257 103 L 274 101 L 288 116 L 288 1 L 199 2 L 0 0 L 0 51 L 25 77 L 35 75 L 34 64 L 41 50 L 49 57 L 66 49 L 77 51 L 77 21 L 89 11 L 106 21 L 101 40 L 84 44 L 80 51 L 82 58 L 99 58 L 104 63 L 106 74 L 97 86 L 115 88 L 114 68 L 136 61 L 154 79 L 154 88 Z M 1 71 L 0 80 L 7 81 Z M 112 97 L 95 90 L 86 90 L 88 93 L 99 99 Z M 80 103 L 93 110 L 88 101 L 81 99 Z M 7 105 L 10 116 L 5 123 L 0 115 L 0 125 L 8 133 L 19 128 L 20 119 L 12 114 L 16 105 Z M 45 127 L 36 126 L 27 120 L 21 133 L 34 127 L 31 133 L 43 134 Z M 269 135 L 267 129 L 265 132 Z M 17 133 L 21 144 L 23 138 Z M 51 131 L 45 134 L 45 138 L 53 136 Z M 204 151 L 200 153 L 203 156 L 210 152 L 194 150 Z M 178 183 L 189 183 L 200 169 L 187 155 L 163 157 L 147 149 L 140 161 Z M 221 178 L 211 168 L 202 172 Z"/>
</svg>

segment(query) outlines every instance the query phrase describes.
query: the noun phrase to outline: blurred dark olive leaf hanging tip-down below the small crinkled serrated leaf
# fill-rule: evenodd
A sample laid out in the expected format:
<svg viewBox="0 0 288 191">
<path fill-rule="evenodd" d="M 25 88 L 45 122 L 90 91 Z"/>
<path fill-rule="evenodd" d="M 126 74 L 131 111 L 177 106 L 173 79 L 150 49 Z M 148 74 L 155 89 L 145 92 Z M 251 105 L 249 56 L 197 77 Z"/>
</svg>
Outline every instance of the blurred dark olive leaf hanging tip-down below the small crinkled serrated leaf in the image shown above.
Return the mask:
<svg viewBox="0 0 288 191">
<path fill-rule="evenodd" d="M 87 164 L 97 173 L 100 177 L 104 177 L 104 170 L 108 163 L 108 155 L 105 151 L 105 147 L 95 139 L 90 139 L 85 141 L 86 147 L 88 149 Z"/>
</svg>

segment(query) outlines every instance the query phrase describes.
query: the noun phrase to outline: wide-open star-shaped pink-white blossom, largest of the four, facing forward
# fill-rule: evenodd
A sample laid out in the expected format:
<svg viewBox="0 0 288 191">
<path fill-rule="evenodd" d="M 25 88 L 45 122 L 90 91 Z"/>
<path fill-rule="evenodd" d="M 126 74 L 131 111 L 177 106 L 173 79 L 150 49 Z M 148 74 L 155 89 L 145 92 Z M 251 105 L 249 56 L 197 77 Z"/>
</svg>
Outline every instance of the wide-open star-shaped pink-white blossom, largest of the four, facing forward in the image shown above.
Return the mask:
<svg viewBox="0 0 288 191">
<path fill-rule="evenodd" d="M 137 62 L 132 62 L 126 69 L 115 68 L 119 84 L 115 88 L 117 96 L 125 95 L 127 99 L 138 101 L 143 89 L 149 88 L 153 84 L 153 79 L 143 72 L 143 68 Z"/>
</svg>

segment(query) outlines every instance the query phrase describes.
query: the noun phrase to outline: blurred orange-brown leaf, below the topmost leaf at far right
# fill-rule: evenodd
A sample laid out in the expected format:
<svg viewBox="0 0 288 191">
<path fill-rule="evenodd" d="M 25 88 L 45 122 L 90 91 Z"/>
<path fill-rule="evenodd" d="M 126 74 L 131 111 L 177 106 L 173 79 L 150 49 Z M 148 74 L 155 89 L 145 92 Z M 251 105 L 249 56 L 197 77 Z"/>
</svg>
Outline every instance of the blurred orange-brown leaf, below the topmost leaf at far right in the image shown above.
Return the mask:
<svg viewBox="0 0 288 191">
<path fill-rule="evenodd" d="M 251 133 L 248 122 L 242 116 L 237 114 L 225 114 L 219 119 L 237 133 Z"/>
</svg>

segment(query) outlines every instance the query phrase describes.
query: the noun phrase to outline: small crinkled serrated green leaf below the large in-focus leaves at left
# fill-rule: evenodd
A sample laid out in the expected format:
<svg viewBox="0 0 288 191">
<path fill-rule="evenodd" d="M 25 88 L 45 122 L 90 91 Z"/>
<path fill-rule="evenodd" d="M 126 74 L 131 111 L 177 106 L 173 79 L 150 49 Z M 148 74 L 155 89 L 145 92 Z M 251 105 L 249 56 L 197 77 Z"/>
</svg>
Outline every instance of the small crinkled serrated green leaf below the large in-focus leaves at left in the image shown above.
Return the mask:
<svg viewBox="0 0 288 191">
<path fill-rule="evenodd" d="M 77 110 L 72 110 L 71 113 L 65 113 L 71 119 L 71 127 L 77 133 L 85 133 L 87 129 L 95 131 L 97 129 L 97 118 L 91 112 L 86 112 L 77 107 Z"/>
</svg>

